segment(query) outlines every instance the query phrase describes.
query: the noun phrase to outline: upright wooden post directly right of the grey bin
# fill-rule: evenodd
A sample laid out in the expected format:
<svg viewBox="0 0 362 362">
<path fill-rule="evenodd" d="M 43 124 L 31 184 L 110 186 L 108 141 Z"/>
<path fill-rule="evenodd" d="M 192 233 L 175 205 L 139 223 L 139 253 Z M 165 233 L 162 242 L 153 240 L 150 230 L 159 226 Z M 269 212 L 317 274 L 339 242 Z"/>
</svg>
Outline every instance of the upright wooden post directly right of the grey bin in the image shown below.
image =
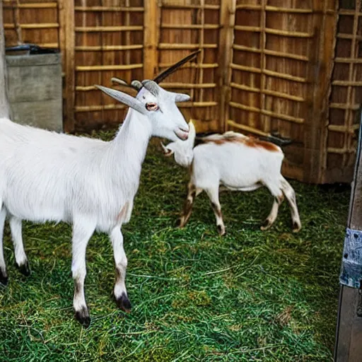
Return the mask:
<svg viewBox="0 0 362 362">
<path fill-rule="evenodd" d="M 74 1 L 59 0 L 59 19 L 61 23 L 60 42 L 64 44 L 64 73 L 65 73 L 65 114 L 64 114 L 64 131 L 74 132 L 74 108 L 76 100 L 76 74 L 74 65 L 75 55 L 75 18 L 74 18 Z"/>
</svg>

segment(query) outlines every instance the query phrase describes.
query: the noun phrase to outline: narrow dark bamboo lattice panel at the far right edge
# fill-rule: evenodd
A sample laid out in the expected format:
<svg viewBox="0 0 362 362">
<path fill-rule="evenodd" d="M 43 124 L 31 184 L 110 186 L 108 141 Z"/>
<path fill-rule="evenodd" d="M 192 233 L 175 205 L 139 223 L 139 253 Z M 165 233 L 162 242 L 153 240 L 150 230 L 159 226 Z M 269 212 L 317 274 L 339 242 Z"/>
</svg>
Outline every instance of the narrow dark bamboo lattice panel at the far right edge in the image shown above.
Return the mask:
<svg viewBox="0 0 362 362">
<path fill-rule="evenodd" d="M 326 150 L 325 180 L 352 180 L 362 103 L 361 0 L 339 1 L 332 93 Z"/>
</svg>

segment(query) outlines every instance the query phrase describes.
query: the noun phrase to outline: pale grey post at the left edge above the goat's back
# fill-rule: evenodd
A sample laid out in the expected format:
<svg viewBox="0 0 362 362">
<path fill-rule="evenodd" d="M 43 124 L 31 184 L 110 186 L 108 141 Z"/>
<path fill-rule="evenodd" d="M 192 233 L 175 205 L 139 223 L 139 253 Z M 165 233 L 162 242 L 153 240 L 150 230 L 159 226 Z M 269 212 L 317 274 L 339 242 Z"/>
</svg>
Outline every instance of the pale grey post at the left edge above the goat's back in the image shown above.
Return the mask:
<svg viewBox="0 0 362 362">
<path fill-rule="evenodd" d="M 5 59 L 5 35 L 3 21 L 3 1 L 0 0 L 0 117 L 10 117 L 8 105 L 8 77 Z"/>
</svg>

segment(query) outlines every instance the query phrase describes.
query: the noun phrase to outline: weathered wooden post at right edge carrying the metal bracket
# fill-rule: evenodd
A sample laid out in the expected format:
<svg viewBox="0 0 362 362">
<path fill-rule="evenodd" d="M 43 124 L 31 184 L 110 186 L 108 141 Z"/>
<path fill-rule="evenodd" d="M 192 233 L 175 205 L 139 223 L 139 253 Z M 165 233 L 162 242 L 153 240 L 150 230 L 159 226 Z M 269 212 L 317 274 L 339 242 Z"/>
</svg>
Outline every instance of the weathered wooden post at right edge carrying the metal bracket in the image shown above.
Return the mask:
<svg viewBox="0 0 362 362">
<path fill-rule="evenodd" d="M 351 188 L 348 227 L 362 230 L 362 113 L 358 154 Z M 362 245 L 361 245 L 362 247 Z M 348 255 L 344 255 L 348 257 Z M 362 260 L 359 261 L 360 264 Z M 362 359 L 361 289 L 341 286 L 337 317 L 335 362 L 359 362 Z M 359 315 L 359 316 L 358 316 Z"/>
</svg>

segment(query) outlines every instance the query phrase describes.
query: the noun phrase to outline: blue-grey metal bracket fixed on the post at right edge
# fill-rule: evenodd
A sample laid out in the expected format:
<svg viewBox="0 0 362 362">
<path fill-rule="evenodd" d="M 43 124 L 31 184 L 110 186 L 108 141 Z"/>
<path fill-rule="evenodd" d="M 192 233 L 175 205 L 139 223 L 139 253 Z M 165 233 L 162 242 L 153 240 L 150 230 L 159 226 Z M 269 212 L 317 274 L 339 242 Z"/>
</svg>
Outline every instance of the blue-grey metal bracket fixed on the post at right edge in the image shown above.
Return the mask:
<svg viewBox="0 0 362 362">
<path fill-rule="evenodd" d="M 361 288 L 362 230 L 347 228 L 339 282 L 351 288 Z"/>
</svg>

